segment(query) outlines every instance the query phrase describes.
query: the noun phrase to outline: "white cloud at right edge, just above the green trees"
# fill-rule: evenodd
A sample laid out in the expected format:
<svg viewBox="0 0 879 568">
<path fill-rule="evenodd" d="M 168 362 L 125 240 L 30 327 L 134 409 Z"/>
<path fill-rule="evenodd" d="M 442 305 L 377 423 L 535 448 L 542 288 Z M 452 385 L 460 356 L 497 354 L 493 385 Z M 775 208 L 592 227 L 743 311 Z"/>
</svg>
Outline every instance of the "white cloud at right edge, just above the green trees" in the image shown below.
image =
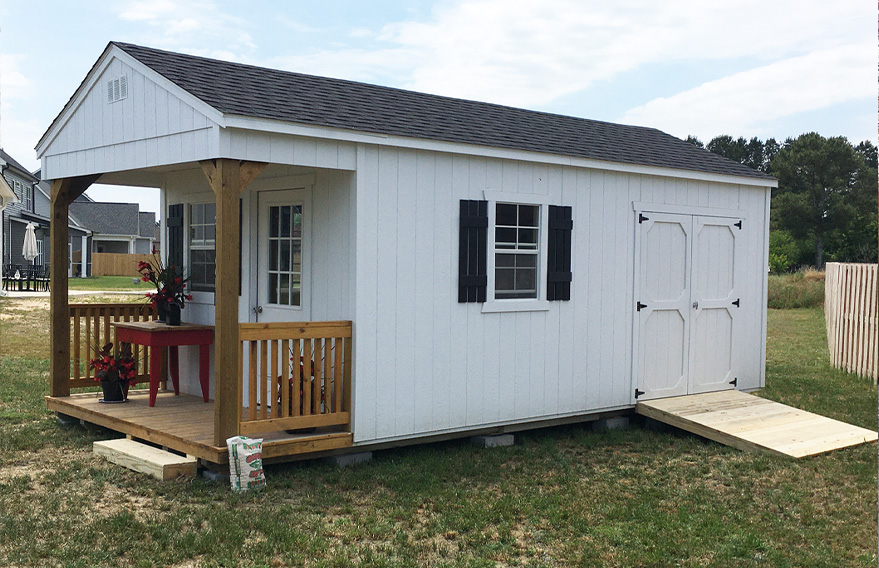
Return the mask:
<svg viewBox="0 0 879 568">
<path fill-rule="evenodd" d="M 876 78 L 865 68 L 876 68 L 874 44 L 816 51 L 654 99 L 628 111 L 623 121 L 680 137 L 765 135 L 772 120 L 857 99 L 875 101 Z"/>
</svg>

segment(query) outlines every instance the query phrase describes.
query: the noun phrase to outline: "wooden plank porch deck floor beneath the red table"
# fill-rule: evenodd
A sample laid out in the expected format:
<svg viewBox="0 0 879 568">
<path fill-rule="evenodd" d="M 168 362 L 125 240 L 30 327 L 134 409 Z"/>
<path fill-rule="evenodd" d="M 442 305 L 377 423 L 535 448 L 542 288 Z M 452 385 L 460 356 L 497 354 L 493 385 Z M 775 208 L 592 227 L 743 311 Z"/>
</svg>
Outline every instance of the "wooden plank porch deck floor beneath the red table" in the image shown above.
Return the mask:
<svg viewBox="0 0 879 568">
<path fill-rule="evenodd" d="M 159 392 L 156 405 L 149 406 L 146 390 L 133 390 L 125 404 L 102 404 L 100 393 L 80 393 L 69 397 L 46 397 L 49 410 L 98 424 L 166 446 L 209 462 L 229 462 L 225 446 L 214 445 L 214 403 L 200 397 Z M 298 454 L 345 448 L 352 443 L 349 432 L 316 431 L 310 434 L 276 433 L 263 437 L 263 458 L 283 458 Z"/>
</svg>

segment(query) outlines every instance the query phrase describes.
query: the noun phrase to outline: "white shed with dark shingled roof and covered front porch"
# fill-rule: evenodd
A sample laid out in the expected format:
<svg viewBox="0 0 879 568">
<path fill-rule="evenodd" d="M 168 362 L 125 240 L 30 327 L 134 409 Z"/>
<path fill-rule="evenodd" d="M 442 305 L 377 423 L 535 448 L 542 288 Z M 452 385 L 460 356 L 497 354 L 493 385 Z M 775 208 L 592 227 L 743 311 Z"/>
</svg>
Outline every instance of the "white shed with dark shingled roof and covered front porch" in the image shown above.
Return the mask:
<svg viewBox="0 0 879 568">
<path fill-rule="evenodd" d="M 37 151 L 57 195 L 161 188 L 183 318 L 216 325 L 217 447 L 280 400 L 247 376 L 274 353 L 242 348 L 254 323 L 352 322 L 347 422 L 314 422 L 346 447 L 764 384 L 776 182 L 655 129 L 110 43 Z"/>
</svg>

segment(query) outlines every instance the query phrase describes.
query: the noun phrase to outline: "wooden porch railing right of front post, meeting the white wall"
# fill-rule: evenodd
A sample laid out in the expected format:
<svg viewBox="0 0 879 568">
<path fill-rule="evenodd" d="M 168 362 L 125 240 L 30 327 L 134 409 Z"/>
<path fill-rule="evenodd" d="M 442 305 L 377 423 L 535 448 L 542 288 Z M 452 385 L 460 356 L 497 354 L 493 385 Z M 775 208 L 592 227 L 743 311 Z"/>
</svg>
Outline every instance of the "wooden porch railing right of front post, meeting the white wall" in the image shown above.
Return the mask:
<svg viewBox="0 0 879 568">
<path fill-rule="evenodd" d="M 238 337 L 240 434 L 350 425 L 350 321 L 243 323 Z"/>
</svg>

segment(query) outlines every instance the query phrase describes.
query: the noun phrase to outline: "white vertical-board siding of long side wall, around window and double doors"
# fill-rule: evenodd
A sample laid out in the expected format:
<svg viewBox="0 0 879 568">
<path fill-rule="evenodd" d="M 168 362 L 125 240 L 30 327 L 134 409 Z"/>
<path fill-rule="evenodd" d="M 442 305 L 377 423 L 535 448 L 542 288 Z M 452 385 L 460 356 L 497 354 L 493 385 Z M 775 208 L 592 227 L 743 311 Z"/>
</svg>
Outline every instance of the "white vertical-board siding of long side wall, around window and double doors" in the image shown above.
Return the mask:
<svg viewBox="0 0 879 568">
<path fill-rule="evenodd" d="M 356 443 L 631 407 L 636 203 L 757 225 L 737 356 L 739 388 L 763 384 L 766 188 L 372 145 L 356 183 Z M 573 208 L 570 301 L 457 303 L 458 201 L 486 191 Z"/>
</svg>

